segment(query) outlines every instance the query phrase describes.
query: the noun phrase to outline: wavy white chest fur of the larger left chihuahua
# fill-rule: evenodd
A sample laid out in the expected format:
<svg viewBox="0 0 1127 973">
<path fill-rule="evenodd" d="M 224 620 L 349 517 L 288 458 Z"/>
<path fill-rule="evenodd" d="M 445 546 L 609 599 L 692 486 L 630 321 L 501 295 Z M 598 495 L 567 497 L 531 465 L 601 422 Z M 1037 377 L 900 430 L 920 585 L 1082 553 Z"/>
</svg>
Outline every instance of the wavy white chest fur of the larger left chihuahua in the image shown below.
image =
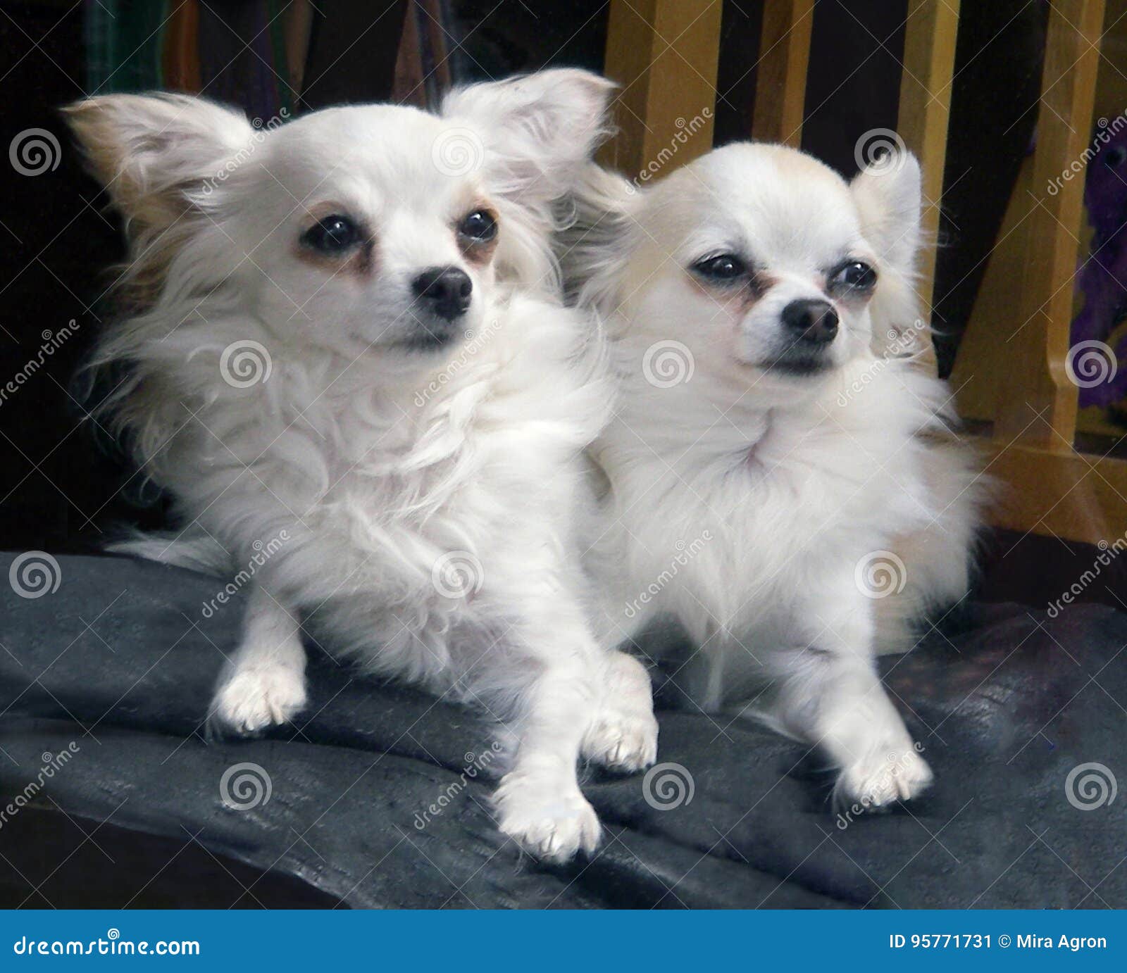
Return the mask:
<svg viewBox="0 0 1127 973">
<path fill-rule="evenodd" d="M 320 395 L 309 363 L 276 356 L 237 418 L 233 395 L 201 409 L 223 445 L 176 486 L 216 537 L 286 532 L 268 570 L 334 651 L 456 678 L 460 644 L 480 654 L 514 599 L 564 582 L 577 456 L 611 401 L 584 332 L 575 312 L 513 297 L 421 377 L 367 381 L 360 363 Z"/>
</svg>

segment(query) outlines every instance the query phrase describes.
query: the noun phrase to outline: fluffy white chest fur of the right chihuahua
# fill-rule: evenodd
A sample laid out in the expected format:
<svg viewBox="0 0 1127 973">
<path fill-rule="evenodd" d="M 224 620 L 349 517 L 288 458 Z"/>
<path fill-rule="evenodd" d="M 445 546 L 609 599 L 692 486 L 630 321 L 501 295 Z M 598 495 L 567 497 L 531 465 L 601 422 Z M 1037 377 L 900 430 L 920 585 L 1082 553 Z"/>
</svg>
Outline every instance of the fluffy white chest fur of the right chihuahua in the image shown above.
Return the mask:
<svg viewBox="0 0 1127 973">
<path fill-rule="evenodd" d="M 926 524 L 915 434 L 934 392 L 898 365 L 871 374 L 844 404 L 850 374 L 765 410 L 724 412 L 691 383 L 624 395 L 600 447 L 618 525 L 600 554 L 630 569 L 612 610 L 673 612 L 698 640 L 792 627 L 796 610 L 852 584 L 859 559 Z M 669 393 L 676 404 L 651 401 Z"/>
</svg>

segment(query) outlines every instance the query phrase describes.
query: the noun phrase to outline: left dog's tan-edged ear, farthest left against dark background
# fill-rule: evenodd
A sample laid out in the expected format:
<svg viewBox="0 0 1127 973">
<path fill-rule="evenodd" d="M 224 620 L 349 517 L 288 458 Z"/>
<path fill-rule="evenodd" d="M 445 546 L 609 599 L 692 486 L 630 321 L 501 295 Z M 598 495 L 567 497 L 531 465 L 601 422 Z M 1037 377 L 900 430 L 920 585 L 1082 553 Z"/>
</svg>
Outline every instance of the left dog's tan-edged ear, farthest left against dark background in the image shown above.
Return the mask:
<svg viewBox="0 0 1127 973">
<path fill-rule="evenodd" d="M 188 95 L 105 95 L 64 113 L 132 232 L 178 220 L 255 132 L 239 113 Z"/>
</svg>

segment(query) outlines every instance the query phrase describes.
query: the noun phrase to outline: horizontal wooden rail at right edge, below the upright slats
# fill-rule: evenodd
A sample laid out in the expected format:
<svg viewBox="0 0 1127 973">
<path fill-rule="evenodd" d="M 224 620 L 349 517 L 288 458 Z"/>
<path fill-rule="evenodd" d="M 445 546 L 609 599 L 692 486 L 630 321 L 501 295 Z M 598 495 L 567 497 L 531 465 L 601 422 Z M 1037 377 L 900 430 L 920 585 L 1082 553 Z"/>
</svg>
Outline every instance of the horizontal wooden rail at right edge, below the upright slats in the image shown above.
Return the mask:
<svg viewBox="0 0 1127 973">
<path fill-rule="evenodd" d="M 986 472 L 999 481 L 990 511 L 995 526 L 1088 544 L 1124 536 L 1127 459 L 996 440 L 992 449 Z"/>
</svg>

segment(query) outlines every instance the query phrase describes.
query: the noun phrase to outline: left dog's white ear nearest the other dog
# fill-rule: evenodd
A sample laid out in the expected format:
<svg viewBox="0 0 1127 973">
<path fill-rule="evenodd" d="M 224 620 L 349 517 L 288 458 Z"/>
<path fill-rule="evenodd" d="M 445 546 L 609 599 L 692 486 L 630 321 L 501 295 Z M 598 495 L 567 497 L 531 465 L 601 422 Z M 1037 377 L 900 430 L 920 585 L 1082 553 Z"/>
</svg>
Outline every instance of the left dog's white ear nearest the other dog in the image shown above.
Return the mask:
<svg viewBox="0 0 1127 973">
<path fill-rule="evenodd" d="M 442 116 L 472 123 L 491 188 L 530 206 L 562 196 L 606 136 L 613 82 L 553 69 L 452 91 Z"/>
</svg>

